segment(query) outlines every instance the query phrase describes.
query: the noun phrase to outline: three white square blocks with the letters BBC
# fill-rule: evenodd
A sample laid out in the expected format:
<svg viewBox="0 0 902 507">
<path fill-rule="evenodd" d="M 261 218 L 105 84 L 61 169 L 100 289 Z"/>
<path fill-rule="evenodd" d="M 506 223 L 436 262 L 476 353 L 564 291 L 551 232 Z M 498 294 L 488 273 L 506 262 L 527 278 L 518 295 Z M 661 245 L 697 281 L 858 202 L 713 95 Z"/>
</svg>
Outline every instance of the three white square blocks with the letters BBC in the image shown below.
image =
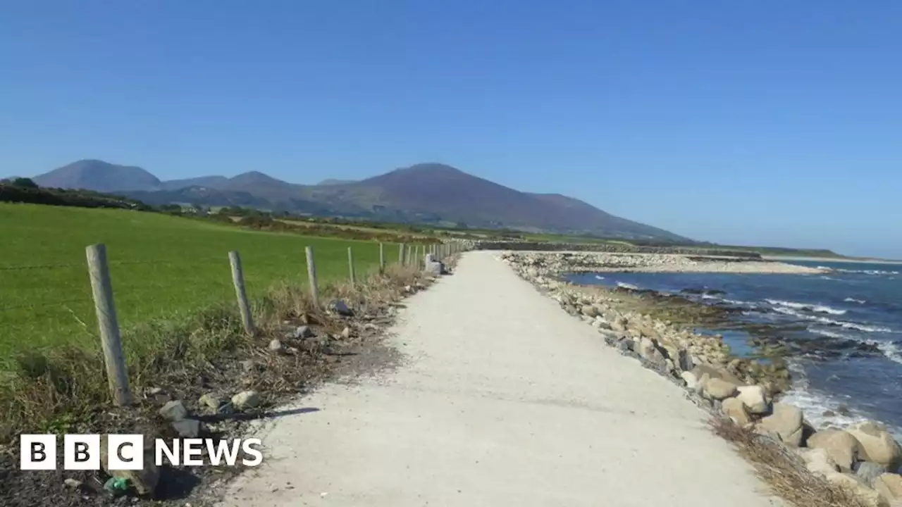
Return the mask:
<svg viewBox="0 0 902 507">
<path fill-rule="evenodd" d="M 63 469 L 99 470 L 100 435 L 64 435 Z M 143 435 L 109 435 L 106 437 L 108 470 L 141 470 L 143 468 Z M 19 439 L 22 470 L 56 470 L 57 436 L 23 435 Z"/>
</svg>

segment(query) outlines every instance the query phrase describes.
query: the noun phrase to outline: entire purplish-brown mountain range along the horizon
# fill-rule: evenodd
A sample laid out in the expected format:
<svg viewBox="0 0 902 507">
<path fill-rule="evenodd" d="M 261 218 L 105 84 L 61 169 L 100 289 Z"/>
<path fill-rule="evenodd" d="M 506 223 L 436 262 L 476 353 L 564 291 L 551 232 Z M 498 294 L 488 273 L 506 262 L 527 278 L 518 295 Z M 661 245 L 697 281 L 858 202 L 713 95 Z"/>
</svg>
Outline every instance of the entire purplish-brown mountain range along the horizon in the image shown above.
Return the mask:
<svg viewBox="0 0 902 507">
<path fill-rule="evenodd" d="M 83 160 L 32 180 L 41 187 L 91 189 L 151 205 L 257 207 L 318 216 L 690 241 L 615 217 L 579 199 L 520 192 L 440 163 L 421 163 L 366 180 L 299 185 L 258 171 L 233 178 L 202 176 L 164 181 L 140 167 Z"/>
</svg>

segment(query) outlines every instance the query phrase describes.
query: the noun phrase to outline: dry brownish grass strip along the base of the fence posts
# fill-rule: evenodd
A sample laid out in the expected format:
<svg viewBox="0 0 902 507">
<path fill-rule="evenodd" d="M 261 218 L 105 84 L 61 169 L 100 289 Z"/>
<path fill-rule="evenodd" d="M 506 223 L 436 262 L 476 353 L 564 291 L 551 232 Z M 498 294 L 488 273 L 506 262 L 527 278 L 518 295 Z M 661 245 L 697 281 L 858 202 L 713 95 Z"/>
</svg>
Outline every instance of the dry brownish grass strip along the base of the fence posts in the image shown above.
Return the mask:
<svg viewBox="0 0 902 507">
<path fill-rule="evenodd" d="M 342 299 L 358 314 L 377 315 L 403 298 L 408 293 L 405 287 L 425 284 L 427 278 L 414 268 L 391 264 L 382 274 L 362 273 L 354 286 L 327 284 L 319 290 L 319 300 L 325 305 Z M 134 328 L 123 336 L 124 344 L 135 344 L 126 351 L 131 391 L 141 393 L 147 387 L 171 384 L 174 378 L 191 383 L 198 375 L 227 377 L 224 368 L 253 358 L 269 364 L 258 378 L 250 379 L 250 387 L 262 392 L 297 392 L 298 382 L 309 376 L 302 370 L 316 358 L 309 354 L 267 355 L 269 340 L 284 339 L 286 321 L 309 322 L 333 335 L 350 324 L 348 319 L 316 308 L 306 287 L 287 283 L 255 300 L 253 313 L 258 327 L 255 336 L 244 334 L 236 309 L 226 305 L 178 321 L 155 320 Z M 98 350 L 58 346 L 21 355 L 15 364 L 16 370 L 0 379 L 0 443 L 23 432 L 65 433 L 89 427 L 98 410 L 109 406 L 104 362 Z"/>
</svg>

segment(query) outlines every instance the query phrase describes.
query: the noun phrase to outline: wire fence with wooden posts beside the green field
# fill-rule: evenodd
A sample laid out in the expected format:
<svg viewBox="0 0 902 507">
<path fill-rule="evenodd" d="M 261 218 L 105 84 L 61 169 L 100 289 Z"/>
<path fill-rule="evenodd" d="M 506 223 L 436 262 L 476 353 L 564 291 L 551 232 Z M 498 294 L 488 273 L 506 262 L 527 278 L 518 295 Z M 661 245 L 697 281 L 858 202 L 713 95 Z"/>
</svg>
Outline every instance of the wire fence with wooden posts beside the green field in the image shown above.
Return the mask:
<svg viewBox="0 0 902 507">
<path fill-rule="evenodd" d="M 353 247 L 347 248 L 348 262 L 348 279 L 353 285 L 355 280 L 354 252 Z M 422 269 L 424 267 L 424 257 L 427 253 L 442 258 L 462 250 L 461 245 L 456 243 L 434 244 L 434 245 L 399 245 L 399 255 L 397 263 L 402 266 L 416 267 Z M 318 304 L 318 281 L 317 267 L 313 254 L 313 247 L 306 247 L 306 261 L 308 274 L 308 288 L 311 296 L 316 304 Z M 117 405 L 123 406 L 130 404 L 132 396 L 128 386 L 128 375 L 125 367 L 124 352 L 122 346 L 122 336 L 119 327 L 119 318 L 116 312 L 113 281 L 110 275 L 110 267 L 116 266 L 135 266 L 135 265 L 169 265 L 179 268 L 192 266 L 209 265 L 210 263 L 225 263 L 226 256 L 209 257 L 204 259 L 192 259 L 189 263 L 178 259 L 158 259 L 148 261 L 110 261 L 107 257 L 105 244 L 91 244 L 85 249 L 86 262 L 84 263 L 35 263 L 35 264 L 0 264 L 0 273 L 2 272 L 25 272 L 30 270 L 54 270 L 54 269 L 85 269 L 87 270 L 88 280 L 90 281 L 90 293 L 85 293 L 80 298 L 65 298 L 60 300 L 41 300 L 26 302 L 23 304 L 0 305 L 0 314 L 5 312 L 21 311 L 23 309 L 45 309 L 45 308 L 64 308 L 67 309 L 70 317 L 74 318 L 79 327 L 84 328 L 92 336 L 99 336 L 106 364 L 106 376 L 109 383 L 110 393 Z M 241 254 L 237 251 L 228 252 L 227 259 L 231 268 L 231 281 L 235 290 L 235 301 L 239 309 L 242 319 L 244 332 L 253 336 L 256 327 L 253 323 L 251 314 L 251 304 L 248 300 L 247 290 L 244 284 L 244 268 L 242 265 Z M 384 272 L 386 266 L 385 245 L 379 244 L 379 272 Z M 285 261 L 289 258 L 286 257 Z M 259 267 L 260 263 L 255 263 Z M 284 265 L 281 261 L 279 265 Z M 0 275 L 0 281 L 2 281 Z M 0 283 L 0 291 L 7 290 Z M 145 299 L 145 295 L 136 295 Z M 69 308 L 68 305 L 82 304 L 93 306 L 94 313 L 97 318 L 97 334 L 90 329 L 84 316 L 78 316 L 76 312 Z M 89 310 L 87 310 L 89 311 Z M 32 317 L 36 317 L 33 315 Z M 12 326 L 5 325 L 6 331 Z"/>
</svg>

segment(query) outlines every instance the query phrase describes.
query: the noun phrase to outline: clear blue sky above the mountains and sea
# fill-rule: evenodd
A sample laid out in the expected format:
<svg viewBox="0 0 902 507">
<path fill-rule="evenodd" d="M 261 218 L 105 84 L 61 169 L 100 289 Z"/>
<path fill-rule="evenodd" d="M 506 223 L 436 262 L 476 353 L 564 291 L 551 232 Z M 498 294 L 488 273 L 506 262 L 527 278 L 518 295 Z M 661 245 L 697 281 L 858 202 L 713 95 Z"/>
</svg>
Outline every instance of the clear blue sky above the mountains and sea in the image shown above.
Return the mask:
<svg viewBox="0 0 902 507">
<path fill-rule="evenodd" d="M 902 258 L 897 0 L 30 0 L 0 174 L 442 161 L 697 239 Z"/>
</svg>

